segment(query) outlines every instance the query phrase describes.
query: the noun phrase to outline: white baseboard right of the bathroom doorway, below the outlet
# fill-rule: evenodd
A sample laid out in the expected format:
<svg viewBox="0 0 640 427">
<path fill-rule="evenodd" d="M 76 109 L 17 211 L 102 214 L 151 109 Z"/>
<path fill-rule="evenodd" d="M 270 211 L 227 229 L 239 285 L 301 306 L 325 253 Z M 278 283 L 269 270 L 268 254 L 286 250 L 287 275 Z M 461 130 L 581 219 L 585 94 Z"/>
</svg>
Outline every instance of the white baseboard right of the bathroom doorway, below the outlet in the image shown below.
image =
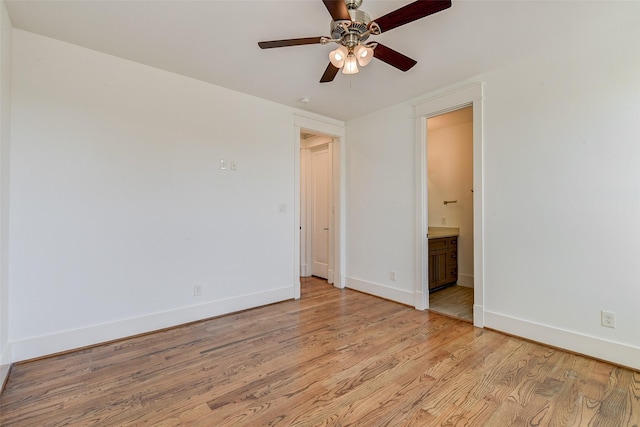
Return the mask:
<svg viewBox="0 0 640 427">
<path fill-rule="evenodd" d="M 640 370 L 638 347 L 490 311 L 484 312 L 484 322 L 488 328 Z"/>
</svg>

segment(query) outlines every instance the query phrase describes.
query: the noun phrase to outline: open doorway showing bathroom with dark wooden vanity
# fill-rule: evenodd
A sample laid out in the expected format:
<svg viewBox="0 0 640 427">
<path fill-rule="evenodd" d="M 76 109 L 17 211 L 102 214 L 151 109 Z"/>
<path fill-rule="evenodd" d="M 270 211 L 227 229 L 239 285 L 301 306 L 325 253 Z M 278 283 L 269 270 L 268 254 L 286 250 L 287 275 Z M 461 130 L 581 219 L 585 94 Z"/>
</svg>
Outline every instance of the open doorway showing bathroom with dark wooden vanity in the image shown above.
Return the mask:
<svg viewBox="0 0 640 427">
<path fill-rule="evenodd" d="M 427 119 L 429 309 L 473 321 L 473 108 Z"/>
</svg>

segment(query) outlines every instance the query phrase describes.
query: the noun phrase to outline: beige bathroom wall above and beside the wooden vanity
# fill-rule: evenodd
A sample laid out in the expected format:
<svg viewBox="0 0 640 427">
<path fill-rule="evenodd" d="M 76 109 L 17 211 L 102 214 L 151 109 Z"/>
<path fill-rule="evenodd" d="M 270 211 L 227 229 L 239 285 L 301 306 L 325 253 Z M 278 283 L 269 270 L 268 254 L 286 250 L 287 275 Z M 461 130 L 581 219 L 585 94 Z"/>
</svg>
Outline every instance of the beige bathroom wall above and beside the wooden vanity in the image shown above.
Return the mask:
<svg viewBox="0 0 640 427">
<path fill-rule="evenodd" d="M 472 288 L 473 123 L 429 130 L 427 140 L 429 226 L 460 230 L 458 284 Z M 445 205 L 445 200 L 456 203 Z"/>
</svg>

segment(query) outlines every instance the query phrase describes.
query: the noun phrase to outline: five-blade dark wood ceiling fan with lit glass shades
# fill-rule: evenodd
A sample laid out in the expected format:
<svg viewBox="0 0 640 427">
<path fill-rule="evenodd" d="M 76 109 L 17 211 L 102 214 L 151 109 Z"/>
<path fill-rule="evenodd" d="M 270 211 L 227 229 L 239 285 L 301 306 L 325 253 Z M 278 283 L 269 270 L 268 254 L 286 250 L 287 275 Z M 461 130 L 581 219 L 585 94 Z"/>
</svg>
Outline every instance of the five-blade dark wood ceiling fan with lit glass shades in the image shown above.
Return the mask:
<svg viewBox="0 0 640 427">
<path fill-rule="evenodd" d="M 399 70 L 409 70 L 416 65 L 415 60 L 382 43 L 367 42 L 369 36 L 382 34 L 451 7 L 451 0 L 418 0 L 372 20 L 366 12 L 358 9 L 362 5 L 362 0 L 322 0 L 322 2 L 333 19 L 330 37 L 303 37 L 258 43 L 262 49 L 337 43 L 340 46 L 329 54 L 330 62 L 320 83 L 333 81 L 341 68 L 344 74 L 355 74 L 358 72 L 358 65 L 364 67 L 374 57 Z"/>
</svg>

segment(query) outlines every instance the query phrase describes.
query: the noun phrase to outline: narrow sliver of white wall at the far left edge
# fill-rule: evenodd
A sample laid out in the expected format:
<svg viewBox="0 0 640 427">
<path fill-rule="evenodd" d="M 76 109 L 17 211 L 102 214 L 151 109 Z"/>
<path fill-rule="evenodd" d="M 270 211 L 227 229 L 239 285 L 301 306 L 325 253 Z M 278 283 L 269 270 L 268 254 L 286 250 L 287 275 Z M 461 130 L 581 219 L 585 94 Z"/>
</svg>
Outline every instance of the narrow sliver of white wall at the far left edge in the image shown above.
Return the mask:
<svg viewBox="0 0 640 427">
<path fill-rule="evenodd" d="M 0 1 L 0 384 L 11 363 L 9 346 L 9 146 L 11 138 L 11 19 Z"/>
</svg>

